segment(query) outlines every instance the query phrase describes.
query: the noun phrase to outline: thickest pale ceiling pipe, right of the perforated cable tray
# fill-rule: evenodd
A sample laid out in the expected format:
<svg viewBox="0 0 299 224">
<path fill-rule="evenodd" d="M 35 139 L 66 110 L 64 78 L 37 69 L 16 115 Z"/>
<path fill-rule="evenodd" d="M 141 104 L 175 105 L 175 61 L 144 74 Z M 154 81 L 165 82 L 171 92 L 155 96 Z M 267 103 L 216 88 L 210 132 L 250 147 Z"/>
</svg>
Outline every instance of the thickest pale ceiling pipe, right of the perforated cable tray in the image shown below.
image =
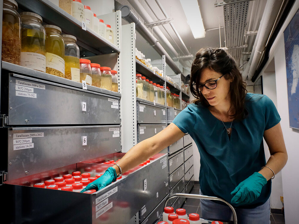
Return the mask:
<svg viewBox="0 0 299 224">
<path fill-rule="evenodd" d="M 280 0 L 267 1 L 249 62 L 242 73 L 243 78 L 248 80 L 252 79 L 258 63 L 260 62 L 262 52 L 265 50 L 267 40 L 269 39 L 269 35 L 277 18 L 281 4 L 282 1 Z"/>
</svg>

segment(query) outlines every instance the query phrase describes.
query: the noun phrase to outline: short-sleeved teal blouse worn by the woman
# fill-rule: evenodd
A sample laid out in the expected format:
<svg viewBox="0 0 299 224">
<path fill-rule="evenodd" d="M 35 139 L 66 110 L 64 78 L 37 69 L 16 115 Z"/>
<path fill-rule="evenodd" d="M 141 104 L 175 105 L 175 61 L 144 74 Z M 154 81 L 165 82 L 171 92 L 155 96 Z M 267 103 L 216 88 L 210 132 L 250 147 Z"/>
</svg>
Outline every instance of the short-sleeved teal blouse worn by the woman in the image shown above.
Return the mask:
<svg viewBox="0 0 299 224">
<path fill-rule="evenodd" d="M 190 104 L 173 123 L 189 133 L 200 154 L 199 184 L 204 195 L 220 197 L 231 203 L 231 191 L 244 179 L 266 164 L 263 147 L 264 131 L 280 122 L 274 103 L 266 95 L 247 93 L 248 115 L 233 121 L 231 137 L 222 121 L 203 105 Z M 227 128 L 231 122 L 224 122 Z M 254 208 L 264 204 L 271 193 L 271 180 L 262 188 L 260 197 L 239 208 Z M 215 201 L 216 202 L 216 201 Z"/>
</svg>

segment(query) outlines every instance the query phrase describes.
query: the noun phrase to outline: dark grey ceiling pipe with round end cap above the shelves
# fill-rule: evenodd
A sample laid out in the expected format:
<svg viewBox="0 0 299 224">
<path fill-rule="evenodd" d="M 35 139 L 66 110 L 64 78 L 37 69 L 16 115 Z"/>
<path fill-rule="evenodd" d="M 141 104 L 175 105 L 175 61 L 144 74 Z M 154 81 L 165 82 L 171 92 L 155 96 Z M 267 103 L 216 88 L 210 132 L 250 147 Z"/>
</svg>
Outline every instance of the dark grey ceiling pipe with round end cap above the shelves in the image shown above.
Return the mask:
<svg viewBox="0 0 299 224">
<path fill-rule="evenodd" d="M 122 5 L 117 1 L 115 3 L 115 10 L 121 11 L 121 17 L 129 23 L 135 23 L 136 30 L 144 37 L 144 39 L 151 45 L 160 56 L 165 55 L 167 65 L 176 73 L 181 73 L 179 67 L 173 62 L 172 58 L 158 42 L 158 40 L 152 35 L 152 33 L 147 29 L 147 27 L 139 20 L 139 17 L 136 16 L 131 8 L 127 5 Z"/>
</svg>

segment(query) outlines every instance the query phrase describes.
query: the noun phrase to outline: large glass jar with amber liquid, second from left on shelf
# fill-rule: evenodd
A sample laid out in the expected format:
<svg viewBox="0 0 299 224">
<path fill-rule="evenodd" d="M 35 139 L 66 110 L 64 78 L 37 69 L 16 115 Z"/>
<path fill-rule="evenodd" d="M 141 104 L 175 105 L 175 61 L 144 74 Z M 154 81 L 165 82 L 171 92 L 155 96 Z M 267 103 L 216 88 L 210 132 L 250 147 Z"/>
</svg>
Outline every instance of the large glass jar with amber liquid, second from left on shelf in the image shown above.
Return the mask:
<svg viewBox="0 0 299 224">
<path fill-rule="evenodd" d="M 36 13 L 22 12 L 21 66 L 46 72 L 46 30 L 42 17 Z"/>
</svg>

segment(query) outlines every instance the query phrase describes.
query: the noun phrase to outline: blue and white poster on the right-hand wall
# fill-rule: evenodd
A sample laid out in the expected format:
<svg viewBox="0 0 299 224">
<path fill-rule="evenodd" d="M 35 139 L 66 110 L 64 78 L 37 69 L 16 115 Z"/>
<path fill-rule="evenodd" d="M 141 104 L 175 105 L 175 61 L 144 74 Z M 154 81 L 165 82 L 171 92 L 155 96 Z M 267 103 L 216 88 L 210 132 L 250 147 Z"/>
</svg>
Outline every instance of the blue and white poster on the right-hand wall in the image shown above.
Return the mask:
<svg viewBox="0 0 299 224">
<path fill-rule="evenodd" d="M 283 32 L 290 128 L 299 129 L 299 10 Z"/>
</svg>

